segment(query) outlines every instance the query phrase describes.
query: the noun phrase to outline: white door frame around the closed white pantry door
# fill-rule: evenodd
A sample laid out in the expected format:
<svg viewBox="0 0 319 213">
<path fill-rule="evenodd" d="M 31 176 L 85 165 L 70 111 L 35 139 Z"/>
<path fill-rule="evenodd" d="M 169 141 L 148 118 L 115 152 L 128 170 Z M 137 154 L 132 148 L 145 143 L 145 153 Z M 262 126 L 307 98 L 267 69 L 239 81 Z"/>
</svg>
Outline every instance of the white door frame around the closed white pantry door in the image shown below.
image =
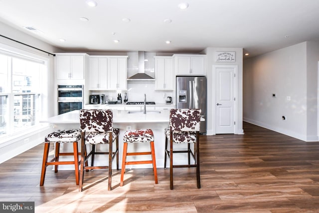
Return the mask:
<svg viewBox="0 0 319 213">
<path fill-rule="evenodd" d="M 225 64 L 213 64 L 212 65 L 212 83 L 213 83 L 213 92 L 212 92 L 212 126 L 213 126 L 213 135 L 216 135 L 216 69 L 217 68 L 233 68 L 235 72 L 235 80 L 234 80 L 234 89 L 235 89 L 235 109 L 234 109 L 234 119 L 235 119 L 235 125 L 234 125 L 234 133 L 238 134 L 238 128 L 237 125 L 239 124 L 238 120 L 238 65 L 225 65 Z"/>
</svg>

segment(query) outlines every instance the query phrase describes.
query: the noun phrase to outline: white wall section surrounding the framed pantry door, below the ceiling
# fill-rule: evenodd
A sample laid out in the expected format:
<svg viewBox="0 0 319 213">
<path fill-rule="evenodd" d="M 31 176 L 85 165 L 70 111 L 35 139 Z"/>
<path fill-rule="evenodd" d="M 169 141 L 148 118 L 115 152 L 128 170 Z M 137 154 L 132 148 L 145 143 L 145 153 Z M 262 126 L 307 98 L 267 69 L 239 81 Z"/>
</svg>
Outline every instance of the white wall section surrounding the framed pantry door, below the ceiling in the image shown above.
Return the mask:
<svg viewBox="0 0 319 213">
<path fill-rule="evenodd" d="M 235 51 L 235 62 L 215 62 L 216 51 Z M 238 111 L 236 114 L 235 132 L 237 134 L 243 134 L 243 49 L 242 48 L 217 48 L 208 47 L 203 52 L 207 55 L 207 135 L 215 133 L 215 84 L 213 82 L 213 65 L 237 65 L 238 66 L 238 97 L 236 97 Z"/>
</svg>

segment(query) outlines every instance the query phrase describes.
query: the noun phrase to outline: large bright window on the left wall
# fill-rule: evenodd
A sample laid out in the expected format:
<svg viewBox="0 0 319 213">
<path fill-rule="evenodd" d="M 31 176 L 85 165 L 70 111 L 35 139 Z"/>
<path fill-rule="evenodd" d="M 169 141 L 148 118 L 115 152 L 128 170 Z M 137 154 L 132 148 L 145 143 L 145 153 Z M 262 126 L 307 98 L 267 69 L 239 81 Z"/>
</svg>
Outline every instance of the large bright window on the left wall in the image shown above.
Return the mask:
<svg viewBox="0 0 319 213">
<path fill-rule="evenodd" d="M 0 51 L 0 138 L 39 124 L 46 70 L 43 60 Z"/>
</svg>

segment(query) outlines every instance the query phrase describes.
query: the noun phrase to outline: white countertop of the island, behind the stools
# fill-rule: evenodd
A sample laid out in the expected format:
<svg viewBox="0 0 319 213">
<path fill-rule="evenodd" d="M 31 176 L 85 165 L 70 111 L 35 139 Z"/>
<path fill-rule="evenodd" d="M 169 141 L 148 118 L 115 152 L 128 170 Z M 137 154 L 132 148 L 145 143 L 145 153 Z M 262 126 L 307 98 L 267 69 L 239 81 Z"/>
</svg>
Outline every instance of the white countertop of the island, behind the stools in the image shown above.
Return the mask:
<svg viewBox="0 0 319 213">
<path fill-rule="evenodd" d="M 133 111 L 133 110 L 132 110 Z M 169 110 L 156 110 L 160 113 L 131 114 L 127 110 L 113 110 L 113 123 L 168 123 Z M 79 124 L 79 110 L 53 116 L 40 123 Z"/>
</svg>

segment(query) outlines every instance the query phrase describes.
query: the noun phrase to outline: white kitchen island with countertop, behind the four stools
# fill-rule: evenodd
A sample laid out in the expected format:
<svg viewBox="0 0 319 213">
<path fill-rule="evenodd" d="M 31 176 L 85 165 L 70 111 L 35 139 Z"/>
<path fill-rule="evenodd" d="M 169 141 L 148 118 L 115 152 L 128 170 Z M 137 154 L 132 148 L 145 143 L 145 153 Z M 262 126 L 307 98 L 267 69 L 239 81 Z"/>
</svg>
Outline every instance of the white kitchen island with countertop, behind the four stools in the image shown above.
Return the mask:
<svg viewBox="0 0 319 213">
<path fill-rule="evenodd" d="M 61 115 L 53 116 L 47 120 L 41 121 L 42 123 L 50 123 L 53 125 L 54 129 L 79 129 L 80 128 L 80 119 L 79 119 L 79 110 L 74 110 L 68 113 Z M 164 167 L 164 145 L 165 145 L 165 135 L 164 129 L 169 126 L 169 110 L 149 110 L 147 114 L 143 114 L 141 111 L 128 111 L 128 110 L 113 110 L 113 126 L 114 128 L 120 129 L 119 135 L 119 158 L 120 165 L 122 164 L 122 155 L 123 155 L 123 136 L 127 129 L 152 129 L 154 132 L 154 145 L 156 153 L 156 163 L 158 168 Z M 174 145 L 175 146 L 175 145 Z M 181 146 L 177 144 L 176 146 Z M 81 147 L 81 146 L 79 146 Z M 72 146 L 69 144 L 61 145 L 63 151 L 72 151 Z M 106 145 L 97 145 L 97 151 L 105 151 L 108 149 Z M 128 152 L 138 151 L 145 152 L 150 150 L 149 143 L 137 143 L 129 144 Z M 68 158 L 68 156 L 62 156 Z M 150 156 L 129 156 L 132 160 L 150 160 Z M 182 158 L 178 157 L 178 154 L 174 155 L 174 162 L 181 161 L 184 163 L 186 161 L 185 156 Z M 96 165 L 99 165 L 100 162 L 104 164 L 108 162 L 107 156 L 96 156 L 95 157 Z M 66 169 L 74 169 L 72 166 L 63 165 Z M 69 167 L 68 167 L 69 166 Z M 168 164 L 169 166 L 169 164 Z M 130 168 L 152 168 L 152 165 L 129 165 L 127 169 Z M 61 166 L 61 169 L 62 166 Z M 114 169 L 114 168 L 113 168 Z"/>
</svg>

